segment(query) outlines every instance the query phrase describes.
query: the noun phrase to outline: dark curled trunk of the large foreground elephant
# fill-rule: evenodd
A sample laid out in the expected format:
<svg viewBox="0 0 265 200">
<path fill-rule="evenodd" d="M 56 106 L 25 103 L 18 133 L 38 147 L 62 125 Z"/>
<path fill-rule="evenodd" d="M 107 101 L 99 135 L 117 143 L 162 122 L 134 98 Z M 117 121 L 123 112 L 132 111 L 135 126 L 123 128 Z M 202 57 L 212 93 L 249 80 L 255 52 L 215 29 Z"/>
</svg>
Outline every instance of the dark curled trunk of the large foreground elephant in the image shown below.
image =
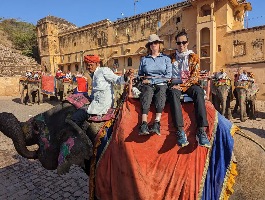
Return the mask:
<svg viewBox="0 0 265 200">
<path fill-rule="evenodd" d="M 37 151 L 29 151 L 19 121 L 12 113 L 0 113 L 0 131 L 11 138 L 19 155 L 28 159 L 37 159 Z"/>
</svg>

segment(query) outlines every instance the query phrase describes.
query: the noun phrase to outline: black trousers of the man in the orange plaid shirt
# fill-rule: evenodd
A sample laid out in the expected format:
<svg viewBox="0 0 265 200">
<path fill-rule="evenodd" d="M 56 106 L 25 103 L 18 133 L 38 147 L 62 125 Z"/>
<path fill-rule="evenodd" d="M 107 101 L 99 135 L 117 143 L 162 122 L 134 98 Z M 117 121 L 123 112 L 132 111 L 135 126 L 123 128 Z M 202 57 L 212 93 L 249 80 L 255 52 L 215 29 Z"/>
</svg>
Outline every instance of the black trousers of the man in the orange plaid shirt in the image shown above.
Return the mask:
<svg viewBox="0 0 265 200">
<path fill-rule="evenodd" d="M 172 86 L 176 85 L 171 83 L 169 88 L 166 90 L 167 97 L 170 101 L 170 111 L 173 118 L 173 123 L 176 127 L 184 126 L 183 124 L 183 114 L 180 103 L 180 92 L 177 89 L 171 89 Z M 204 93 L 203 88 L 198 85 L 192 85 L 188 88 L 183 94 L 187 94 L 192 98 L 195 108 L 195 118 L 198 127 L 207 127 L 209 126 L 207 121 L 207 113 L 205 107 Z"/>
</svg>

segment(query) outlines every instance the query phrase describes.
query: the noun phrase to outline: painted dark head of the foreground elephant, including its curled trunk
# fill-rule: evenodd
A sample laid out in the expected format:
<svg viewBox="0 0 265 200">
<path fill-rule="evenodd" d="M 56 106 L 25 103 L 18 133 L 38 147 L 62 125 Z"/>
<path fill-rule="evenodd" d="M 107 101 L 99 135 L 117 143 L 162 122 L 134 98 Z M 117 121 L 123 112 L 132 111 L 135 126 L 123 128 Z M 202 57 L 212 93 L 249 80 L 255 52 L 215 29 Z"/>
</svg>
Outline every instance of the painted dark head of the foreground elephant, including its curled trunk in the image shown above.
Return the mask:
<svg viewBox="0 0 265 200">
<path fill-rule="evenodd" d="M 75 111 L 73 105 L 64 103 L 30 118 L 27 122 L 18 122 L 11 113 L 0 113 L 0 130 L 12 138 L 21 156 L 38 158 L 44 168 L 58 168 L 58 174 L 66 174 L 72 164 L 84 167 L 84 160 L 89 160 L 92 154 L 92 143 L 83 141 L 76 130 L 64 121 Z M 7 117 L 10 120 L 7 121 Z M 26 146 L 33 144 L 38 144 L 39 148 L 31 152 Z"/>
</svg>

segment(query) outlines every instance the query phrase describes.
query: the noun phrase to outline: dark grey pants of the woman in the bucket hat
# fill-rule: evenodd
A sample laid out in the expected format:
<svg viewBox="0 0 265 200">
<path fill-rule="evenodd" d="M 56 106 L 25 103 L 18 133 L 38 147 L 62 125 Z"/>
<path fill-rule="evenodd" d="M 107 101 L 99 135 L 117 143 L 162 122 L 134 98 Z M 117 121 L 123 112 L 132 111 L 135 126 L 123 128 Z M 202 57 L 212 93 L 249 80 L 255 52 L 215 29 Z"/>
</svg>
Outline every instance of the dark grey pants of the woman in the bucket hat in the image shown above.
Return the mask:
<svg viewBox="0 0 265 200">
<path fill-rule="evenodd" d="M 154 103 L 156 106 L 156 113 L 162 113 L 166 103 L 166 88 L 167 85 L 153 85 L 150 83 L 143 83 L 141 86 L 141 108 L 142 114 L 148 114 L 152 97 L 154 95 Z"/>
</svg>

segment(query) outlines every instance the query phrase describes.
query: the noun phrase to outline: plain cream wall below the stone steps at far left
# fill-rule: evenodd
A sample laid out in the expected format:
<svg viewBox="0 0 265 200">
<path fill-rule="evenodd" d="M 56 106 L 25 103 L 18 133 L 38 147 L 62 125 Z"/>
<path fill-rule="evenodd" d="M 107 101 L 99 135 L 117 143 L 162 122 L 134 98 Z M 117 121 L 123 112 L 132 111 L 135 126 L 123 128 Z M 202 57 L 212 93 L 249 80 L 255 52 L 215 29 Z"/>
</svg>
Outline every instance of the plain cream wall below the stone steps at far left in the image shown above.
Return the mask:
<svg viewBox="0 0 265 200">
<path fill-rule="evenodd" d="M 0 96 L 20 95 L 20 77 L 0 77 Z"/>
</svg>

